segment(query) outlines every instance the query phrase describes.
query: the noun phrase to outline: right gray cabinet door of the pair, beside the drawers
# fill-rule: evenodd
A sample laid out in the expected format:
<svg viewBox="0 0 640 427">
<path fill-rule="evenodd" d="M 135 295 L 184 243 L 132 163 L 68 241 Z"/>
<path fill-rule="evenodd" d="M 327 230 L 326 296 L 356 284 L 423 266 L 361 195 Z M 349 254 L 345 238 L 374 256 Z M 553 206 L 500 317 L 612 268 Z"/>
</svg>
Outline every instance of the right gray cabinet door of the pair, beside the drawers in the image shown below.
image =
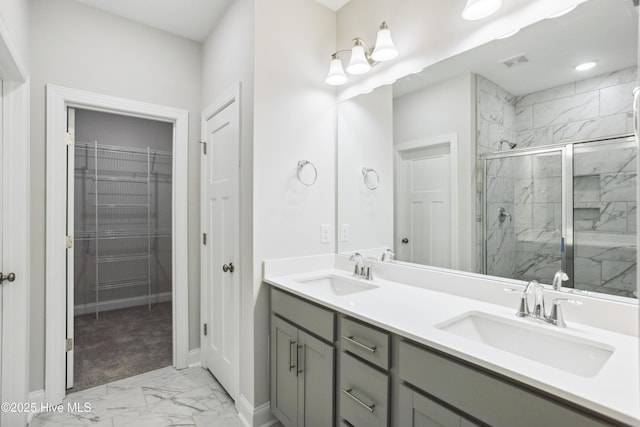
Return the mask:
<svg viewBox="0 0 640 427">
<path fill-rule="evenodd" d="M 334 348 L 298 331 L 298 425 L 332 426 L 334 423 Z"/>
</svg>

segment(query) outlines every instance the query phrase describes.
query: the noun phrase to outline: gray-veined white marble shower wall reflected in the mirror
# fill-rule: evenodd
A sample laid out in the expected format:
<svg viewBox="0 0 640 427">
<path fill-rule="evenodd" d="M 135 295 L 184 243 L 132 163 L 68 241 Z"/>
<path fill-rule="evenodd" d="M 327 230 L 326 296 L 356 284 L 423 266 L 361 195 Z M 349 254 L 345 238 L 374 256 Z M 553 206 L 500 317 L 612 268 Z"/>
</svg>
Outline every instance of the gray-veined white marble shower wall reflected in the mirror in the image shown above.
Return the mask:
<svg viewBox="0 0 640 427">
<path fill-rule="evenodd" d="M 478 75 L 478 155 L 508 151 L 501 139 L 524 148 L 632 133 L 636 77 L 628 68 L 515 97 Z M 607 150 L 575 157 L 576 287 L 633 296 L 636 153 Z M 490 160 L 486 179 L 487 274 L 549 283 L 561 266 L 560 154 Z M 512 214 L 503 222 L 501 206 Z"/>
</svg>

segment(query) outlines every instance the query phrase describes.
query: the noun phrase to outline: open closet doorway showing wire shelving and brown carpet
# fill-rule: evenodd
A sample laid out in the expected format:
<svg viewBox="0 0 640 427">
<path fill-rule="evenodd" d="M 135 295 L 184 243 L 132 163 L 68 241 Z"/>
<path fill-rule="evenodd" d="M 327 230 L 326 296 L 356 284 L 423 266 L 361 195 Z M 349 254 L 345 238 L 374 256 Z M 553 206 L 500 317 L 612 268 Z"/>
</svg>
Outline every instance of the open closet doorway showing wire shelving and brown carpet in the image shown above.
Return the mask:
<svg viewBox="0 0 640 427">
<path fill-rule="evenodd" d="M 173 363 L 173 124 L 77 108 L 67 118 L 67 388 L 77 391 Z"/>
</svg>

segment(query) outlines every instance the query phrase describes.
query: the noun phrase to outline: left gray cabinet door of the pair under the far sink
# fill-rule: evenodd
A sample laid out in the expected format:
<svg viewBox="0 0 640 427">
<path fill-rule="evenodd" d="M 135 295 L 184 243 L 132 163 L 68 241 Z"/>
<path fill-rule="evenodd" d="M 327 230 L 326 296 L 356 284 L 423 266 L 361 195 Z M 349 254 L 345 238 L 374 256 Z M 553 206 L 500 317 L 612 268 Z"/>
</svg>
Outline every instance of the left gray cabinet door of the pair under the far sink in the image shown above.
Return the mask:
<svg viewBox="0 0 640 427">
<path fill-rule="evenodd" d="M 271 410 L 286 427 L 298 425 L 298 329 L 271 316 Z"/>
</svg>

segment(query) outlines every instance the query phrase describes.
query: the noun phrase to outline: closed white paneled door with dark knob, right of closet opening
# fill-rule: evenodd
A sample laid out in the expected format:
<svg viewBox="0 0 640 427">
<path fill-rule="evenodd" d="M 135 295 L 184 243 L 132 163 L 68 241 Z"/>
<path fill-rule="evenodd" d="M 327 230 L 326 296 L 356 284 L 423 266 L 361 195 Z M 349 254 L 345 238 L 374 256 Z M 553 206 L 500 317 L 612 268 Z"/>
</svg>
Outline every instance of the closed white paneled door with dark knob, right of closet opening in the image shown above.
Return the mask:
<svg viewBox="0 0 640 427">
<path fill-rule="evenodd" d="M 205 117 L 202 162 L 203 362 L 234 400 L 239 388 L 240 322 L 238 104 L 235 98 Z"/>
</svg>

